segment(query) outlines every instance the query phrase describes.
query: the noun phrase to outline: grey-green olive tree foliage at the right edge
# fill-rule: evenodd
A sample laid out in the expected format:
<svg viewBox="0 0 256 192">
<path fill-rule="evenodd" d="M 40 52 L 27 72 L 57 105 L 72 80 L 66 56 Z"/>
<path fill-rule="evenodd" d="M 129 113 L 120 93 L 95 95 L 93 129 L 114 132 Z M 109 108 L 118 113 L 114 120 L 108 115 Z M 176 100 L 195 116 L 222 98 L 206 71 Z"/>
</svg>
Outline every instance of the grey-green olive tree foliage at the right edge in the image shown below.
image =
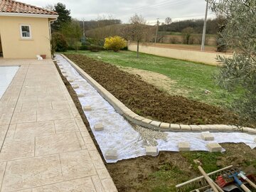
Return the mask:
<svg viewBox="0 0 256 192">
<path fill-rule="evenodd" d="M 210 7 L 225 16 L 225 28 L 220 33 L 223 44 L 234 50 L 233 58 L 218 56 L 223 64 L 217 77 L 228 90 L 240 90 L 242 95 L 233 109 L 243 120 L 256 124 L 256 1 L 210 0 Z"/>
</svg>

